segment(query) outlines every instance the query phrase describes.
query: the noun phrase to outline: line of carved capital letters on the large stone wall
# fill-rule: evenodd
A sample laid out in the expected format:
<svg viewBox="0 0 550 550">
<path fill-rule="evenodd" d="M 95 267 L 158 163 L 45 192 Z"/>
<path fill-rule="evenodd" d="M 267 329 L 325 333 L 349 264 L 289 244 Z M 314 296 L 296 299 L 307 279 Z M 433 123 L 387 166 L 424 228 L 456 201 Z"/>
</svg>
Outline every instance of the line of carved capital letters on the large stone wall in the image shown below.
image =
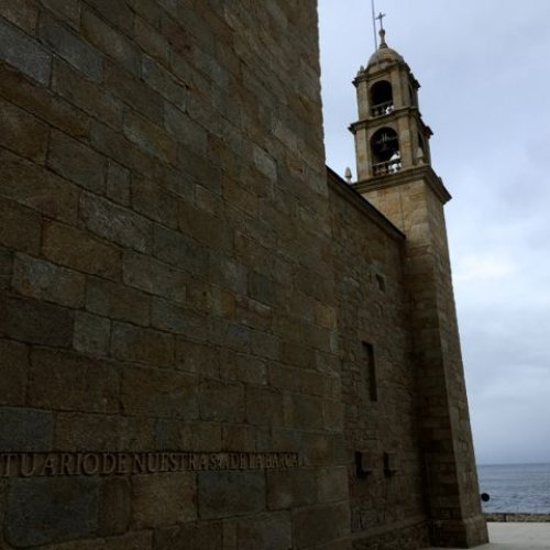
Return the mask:
<svg viewBox="0 0 550 550">
<path fill-rule="evenodd" d="M 129 475 L 299 466 L 293 452 L 23 452 L 0 453 L 0 476 Z"/>
</svg>

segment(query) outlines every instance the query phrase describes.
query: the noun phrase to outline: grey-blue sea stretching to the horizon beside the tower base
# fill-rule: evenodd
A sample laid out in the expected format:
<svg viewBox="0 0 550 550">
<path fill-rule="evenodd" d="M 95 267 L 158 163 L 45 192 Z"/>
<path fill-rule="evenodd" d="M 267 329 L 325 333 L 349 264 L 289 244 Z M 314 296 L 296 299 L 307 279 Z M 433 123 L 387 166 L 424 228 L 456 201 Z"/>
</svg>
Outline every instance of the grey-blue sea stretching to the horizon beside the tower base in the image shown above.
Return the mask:
<svg viewBox="0 0 550 550">
<path fill-rule="evenodd" d="M 477 465 L 483 512 L 550 514 L 550 464 Z"/>
</svg>

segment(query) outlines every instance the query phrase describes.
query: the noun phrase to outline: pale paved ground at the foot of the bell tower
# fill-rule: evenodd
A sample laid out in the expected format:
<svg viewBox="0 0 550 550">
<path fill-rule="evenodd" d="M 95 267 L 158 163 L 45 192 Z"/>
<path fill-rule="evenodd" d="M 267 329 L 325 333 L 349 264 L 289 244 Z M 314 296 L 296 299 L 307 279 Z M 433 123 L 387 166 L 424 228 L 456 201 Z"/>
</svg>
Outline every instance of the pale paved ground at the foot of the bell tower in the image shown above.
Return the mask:
<svg viewBox="0 0 550 550">
<path fill-rule="evenodd" d="M 490 522 L 487 527 L 491 543 L 476 550 L 550 550 L 550 522 Z"/>
</svg>

